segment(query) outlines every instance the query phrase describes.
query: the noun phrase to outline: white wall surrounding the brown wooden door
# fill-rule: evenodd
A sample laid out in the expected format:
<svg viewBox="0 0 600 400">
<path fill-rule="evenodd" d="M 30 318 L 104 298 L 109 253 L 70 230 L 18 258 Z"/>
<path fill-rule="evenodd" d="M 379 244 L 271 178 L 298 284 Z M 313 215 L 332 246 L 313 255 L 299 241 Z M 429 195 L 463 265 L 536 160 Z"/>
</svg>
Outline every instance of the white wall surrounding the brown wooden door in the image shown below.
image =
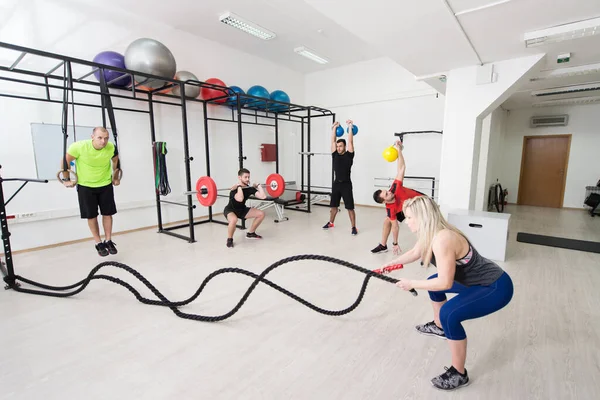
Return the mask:
<svg viewBox="0 0 600 400">
<path fill-rule="evenodd" d="M 568 114 L 564 127 L 530 128 L 532 116 Z M 571 134 L 571 152 L 567 171 L 564 207 L 583 208 L 585 187 L 600 179 L 600 104 L 570 107 L 546 107 L 512 110 L 508 113 L 500 181 L 509 190 L 509 202 L 516 203 L 521 172 L 523 137 L 533 135 Z"/>
</svg>

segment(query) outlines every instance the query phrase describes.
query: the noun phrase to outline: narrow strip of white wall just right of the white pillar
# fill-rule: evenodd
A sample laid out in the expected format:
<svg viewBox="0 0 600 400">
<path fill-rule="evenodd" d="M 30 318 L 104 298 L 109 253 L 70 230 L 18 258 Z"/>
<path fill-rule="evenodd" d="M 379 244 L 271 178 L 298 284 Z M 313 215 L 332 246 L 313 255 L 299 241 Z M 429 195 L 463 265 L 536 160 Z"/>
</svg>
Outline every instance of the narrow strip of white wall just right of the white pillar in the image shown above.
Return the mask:
<svg viewBox="0 0 600 400">
<path fill-rule="evenodd" d="M 479 169 L 477 177 L 476 210 L 487 211 L 489 188 L 498 181 L 503 189 L 504 182 L 500 181 L 500 171 L 503 165 L 502 144 L 506 131 L 508 113 L 498 107 L 483 120 L 481 133 L 481 149 L 479 153 Z M 509 199 L 514 191 L 509 190 Z M 514 197 L 516 199 L 516 197 Z"/>
</svg>

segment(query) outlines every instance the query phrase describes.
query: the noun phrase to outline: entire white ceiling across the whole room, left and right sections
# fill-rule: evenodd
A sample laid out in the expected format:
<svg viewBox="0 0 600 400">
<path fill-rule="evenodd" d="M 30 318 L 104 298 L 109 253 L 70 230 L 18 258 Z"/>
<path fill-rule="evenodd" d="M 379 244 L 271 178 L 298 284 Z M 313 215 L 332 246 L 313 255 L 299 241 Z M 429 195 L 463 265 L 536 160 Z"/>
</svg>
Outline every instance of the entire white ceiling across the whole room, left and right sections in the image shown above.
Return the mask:
<svg viewBox="0 0 600 400">
<path fill-rule="evenodd" d="M 262 41 L 220 23 L 226 11 L 277 37 Z M 600 0 L 0 0 L 0 40 L 27 46 L 33 30 L 26 21 L 38 21 L 44 26 L 36 26 L 42 33 L 35 43 L 91 59 L 98 48 L 130 42 L 141 32 L 175 28 L 302 73 L 387 56 L 417 77 L 431 75 L 423 80 L 443 93 L 439 74 L 482 62 L 546 53 L 540 77 L 600 64 L 600 35 L 531 49 L 523 41 L 525 32 L 594 17 L 600 17 Z M 82 36 L 89 46 L 74 46 Z M 330 63 L 296 55 L 298 46 Z M 563 52 L 571 52 L 571 62 L 559 65 L 556 56 Z M 531 90 L 596 81 L 600 72 L 536 80 L 503 106 L 539 102 Z"/>
</svg>

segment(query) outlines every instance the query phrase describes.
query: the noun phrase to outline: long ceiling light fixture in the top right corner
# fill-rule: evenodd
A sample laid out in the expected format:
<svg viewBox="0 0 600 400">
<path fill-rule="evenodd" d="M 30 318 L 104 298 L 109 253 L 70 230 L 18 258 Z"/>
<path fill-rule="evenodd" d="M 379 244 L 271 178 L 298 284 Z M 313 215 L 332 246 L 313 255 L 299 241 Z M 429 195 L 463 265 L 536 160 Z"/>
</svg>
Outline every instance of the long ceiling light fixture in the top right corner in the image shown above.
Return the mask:
<svg viewBox="0 0 600 400">
<path fill-rule="evenodd" d="M 599 34 L 600 18 L 593 18 L 535 32 L 527 32 L 524 35 L 524 40 L 525 47 L 536 47 Z"/>
</svg>

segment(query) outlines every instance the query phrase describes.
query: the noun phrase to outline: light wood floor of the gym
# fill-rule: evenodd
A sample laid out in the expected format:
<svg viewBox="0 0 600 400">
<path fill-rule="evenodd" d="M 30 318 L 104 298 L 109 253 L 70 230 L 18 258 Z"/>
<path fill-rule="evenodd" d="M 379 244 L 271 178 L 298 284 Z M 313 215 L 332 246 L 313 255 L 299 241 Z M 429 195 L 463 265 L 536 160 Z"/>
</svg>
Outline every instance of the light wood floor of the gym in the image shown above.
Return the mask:
<svg viewBox="0 0 600 400">
<path fill-rule="evenodd" d="M 177 318 L 169 309 L 139 303 L 124 288 L 93 281 L 73 298 L 0 293 L 2 399 L 597 399 L 600 398 L 600 254 L 517 243 L 519 231 L 600 240 L 600 218 L 583 211 L 508 208 L 512 302 L 468 321 L 471 384 L 453 393 L 430 379 L 450 365 L 445 341 L 419 335 L 431 320 L 426 292 L 414 298 L 372 280 L 363 303 L 343 317 L 318 314 L 260 285 L 240 312 L 220 323 Z M 241 267 L 260 272 L 290 255 L 339 257 L 366 268 L 392 255 L 372 255 L 383 211 L 359 208 L 359 234 L 347 214 L 321 230 L 328 210 L 288 211 L 268 218 L 248 241 L 225 247 L 225 226 L 197 227 L 188 244 L 152 230 L 117 236 L 112 259 L 136 268 L 168 298 L 187 298 L 210 272 Z M 414 237 L 401 228 L 407 250 Z M 18 274 L 47 284 L 83 279 L 100 261 L 91 242 L 23 253 Z M 104 273 L 134 279 L 115 269 Z M 393 276 L 425 278 L 417 263 Z M 321 262 L 275 270 L 270 279 L 328 309 L 351 304 L 362 275 Z M 251 280 L 215 279 L 184 310 L 216 315 L 230 310 Z"/>
</svg>

